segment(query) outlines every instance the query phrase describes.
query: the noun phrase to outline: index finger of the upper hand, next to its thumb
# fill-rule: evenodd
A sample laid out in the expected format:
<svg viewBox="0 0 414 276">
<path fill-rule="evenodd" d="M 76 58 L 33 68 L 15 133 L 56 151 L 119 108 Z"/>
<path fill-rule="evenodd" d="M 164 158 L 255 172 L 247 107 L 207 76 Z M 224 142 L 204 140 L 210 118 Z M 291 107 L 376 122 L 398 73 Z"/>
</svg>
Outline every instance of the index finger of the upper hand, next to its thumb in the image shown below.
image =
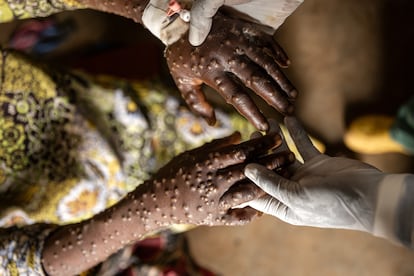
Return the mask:
<svg viewBox="0 0 414 276">
<path fill-rule="evenodd" d="M 239 84 L 224 74 L 215 77 L 214 80 L 215 84 L 211 87 L 217 90 L 227 103 L 233 105 L 257 129 L 263 131 L 268 129 L 265 116 Z"/>
</svg>

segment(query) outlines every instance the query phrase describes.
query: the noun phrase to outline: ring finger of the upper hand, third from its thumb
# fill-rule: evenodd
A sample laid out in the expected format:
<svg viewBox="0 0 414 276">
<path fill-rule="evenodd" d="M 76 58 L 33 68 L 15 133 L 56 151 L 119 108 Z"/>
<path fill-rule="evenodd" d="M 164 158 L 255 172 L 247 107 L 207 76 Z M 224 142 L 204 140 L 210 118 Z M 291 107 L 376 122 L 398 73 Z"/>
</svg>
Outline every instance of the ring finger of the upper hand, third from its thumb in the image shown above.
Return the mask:
<svg viewBox="0 0 414 276">
<path fill-rule="evenodd" d="M 249 47 L 246 50 L 246 55 L 257 65 L 266 70 L 266 72 L 280 86 L 280 89 L 284 92 L 284 94 L 286 94 L 286 96 L 288 96 L 291 100 L 297 97 L 297 90 L 276 64 L 276 62 L 279 64 L 288 64 L 289 62 L 287 57 L 286 59 L 278 61 L 277 57 L 274 57 L 276 54 L 272 53 L 270 49 L 260 49 L 259 47 Z M 285 65 L 285 67 L 287 67 L 287 65 Z"/>
</svg>

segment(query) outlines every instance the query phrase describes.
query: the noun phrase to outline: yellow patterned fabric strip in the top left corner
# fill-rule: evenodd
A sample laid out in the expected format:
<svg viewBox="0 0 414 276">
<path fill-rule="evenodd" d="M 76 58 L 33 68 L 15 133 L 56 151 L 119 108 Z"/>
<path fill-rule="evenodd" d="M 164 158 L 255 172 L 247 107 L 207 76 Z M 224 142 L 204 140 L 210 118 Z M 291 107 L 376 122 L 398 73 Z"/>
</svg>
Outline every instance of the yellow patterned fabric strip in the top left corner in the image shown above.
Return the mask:
<svg viewBox="0 0 414 276">
<path fill-rule="evenodd" d="M 0 22 L 83 8 L 77 0 L 0 0 Z"/>
</svg>

